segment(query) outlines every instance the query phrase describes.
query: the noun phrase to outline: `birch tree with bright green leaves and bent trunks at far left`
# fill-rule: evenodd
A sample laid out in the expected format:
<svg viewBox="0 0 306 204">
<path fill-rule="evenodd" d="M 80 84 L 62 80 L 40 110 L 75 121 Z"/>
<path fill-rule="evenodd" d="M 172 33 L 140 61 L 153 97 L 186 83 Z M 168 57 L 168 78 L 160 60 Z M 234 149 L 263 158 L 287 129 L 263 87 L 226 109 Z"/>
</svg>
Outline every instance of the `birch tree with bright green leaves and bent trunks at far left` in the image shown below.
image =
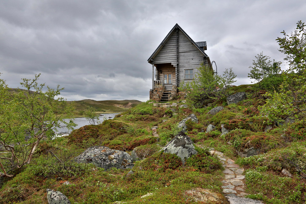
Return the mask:
<svg viewBox="0 0 306 204">
<path fill-rule="evenodd" d="M 0 176 L 13 177 L 29 164 L 40 141 L 51 139 L 54 129 L 62 124 L 69 129 L 75 126 L 62 118 L 72 110 L 64 98 L 56 99 L 63 88 L 47 87 L 43 92 L 45 84 L 37 83 L 39 76 L 22 79 L 24 89 L 13 92 L 0 79 Z"/>
</svg>

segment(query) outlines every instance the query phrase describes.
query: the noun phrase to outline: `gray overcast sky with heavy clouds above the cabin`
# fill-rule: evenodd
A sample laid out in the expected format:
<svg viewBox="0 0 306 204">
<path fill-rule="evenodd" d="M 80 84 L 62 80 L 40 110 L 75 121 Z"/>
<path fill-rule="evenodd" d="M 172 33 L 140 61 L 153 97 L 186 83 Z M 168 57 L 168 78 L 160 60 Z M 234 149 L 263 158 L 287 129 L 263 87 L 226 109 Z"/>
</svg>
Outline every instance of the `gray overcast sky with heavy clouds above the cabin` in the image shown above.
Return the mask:
<svg viewBox="0 0 306 204">
<path fill-rule="evenodd" d="M 306 21 L 305 0 L 0 1 L 0 72 L 9 87 L 41 73 L 68 100 L 149 99 L 147 59 L 177 23 L 216 61 L 249 84 L 263 51 L 283 61 L 277 37 Z M 285 66 L 285 65 L 283 65 Z M 215 67 L 214 67 L 215 68 Z"/>
</svg>

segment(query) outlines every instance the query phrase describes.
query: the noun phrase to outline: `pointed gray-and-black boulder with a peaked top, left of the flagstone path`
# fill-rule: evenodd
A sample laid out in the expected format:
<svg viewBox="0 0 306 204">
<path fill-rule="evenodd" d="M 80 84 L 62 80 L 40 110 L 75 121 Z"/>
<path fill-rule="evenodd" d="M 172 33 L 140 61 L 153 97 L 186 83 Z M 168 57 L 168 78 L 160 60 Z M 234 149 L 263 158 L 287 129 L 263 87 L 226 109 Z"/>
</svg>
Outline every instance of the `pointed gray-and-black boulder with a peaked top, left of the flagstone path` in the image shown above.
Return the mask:
<svg viewBox="0 0 306 204">
<path fill-rule="evenodd" d="M 176 154 L 183 164 L 193 154 L 198 153 L 192 140 L 184 132 L 179 132 L 162 150 L 164 153 Z"/>
</svg>

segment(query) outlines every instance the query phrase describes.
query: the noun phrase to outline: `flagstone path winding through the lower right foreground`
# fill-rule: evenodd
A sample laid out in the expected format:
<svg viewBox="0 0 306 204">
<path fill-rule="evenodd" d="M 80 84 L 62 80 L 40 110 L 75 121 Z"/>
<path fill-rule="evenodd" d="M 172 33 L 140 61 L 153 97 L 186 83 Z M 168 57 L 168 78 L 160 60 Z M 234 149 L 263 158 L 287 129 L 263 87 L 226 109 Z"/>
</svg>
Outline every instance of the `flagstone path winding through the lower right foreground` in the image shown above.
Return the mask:
<svg viewBox="0 0 306 204">
<path fill-rule="evenodd" d="M 217 155 L 223 164 L 225 170 L 224 180 L 222 180 L 222 193 L 227 196 L 237 195 L 239 197 L 244 197 L 248 195 L 244 192 L 245 189 L 245 177 L 242 175 L 244 169 L 239 168 L 239 165 L 235 164 L 235 161 L 224 156 L 222 152 L 215 150 L 210 151 L 211 155 Z"/>
</svg>

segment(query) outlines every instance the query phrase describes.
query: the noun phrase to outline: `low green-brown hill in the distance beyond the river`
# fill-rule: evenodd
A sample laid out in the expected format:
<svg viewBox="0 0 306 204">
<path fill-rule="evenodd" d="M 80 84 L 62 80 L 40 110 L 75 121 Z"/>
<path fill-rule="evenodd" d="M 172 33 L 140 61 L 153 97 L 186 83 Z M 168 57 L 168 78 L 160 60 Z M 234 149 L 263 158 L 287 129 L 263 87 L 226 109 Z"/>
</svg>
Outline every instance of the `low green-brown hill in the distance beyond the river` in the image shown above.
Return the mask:
<svg viewBox="0 0 306 204">
<path fill-rule="evenodd" d="M 19 88 L 10 88 L 9 92 L 16 93 L 17 90 L 22 90 L 24 93 L 28 91 L 25 89 Z M 31 94 L 35 93 L 35 91 L 30 91 Z M 140 104 L 141 101 L 138 100 L 105 100 L 105 101 L 95 101 L 91 99 L 84 99 L 80 101 L 68 101 L 69 103 L 74 103 L 76 115 L 83 115 L 83 112 L 88 107 L 94 107 L 97 112 L 124 112 L 137 104 Z"/>
</svg>

